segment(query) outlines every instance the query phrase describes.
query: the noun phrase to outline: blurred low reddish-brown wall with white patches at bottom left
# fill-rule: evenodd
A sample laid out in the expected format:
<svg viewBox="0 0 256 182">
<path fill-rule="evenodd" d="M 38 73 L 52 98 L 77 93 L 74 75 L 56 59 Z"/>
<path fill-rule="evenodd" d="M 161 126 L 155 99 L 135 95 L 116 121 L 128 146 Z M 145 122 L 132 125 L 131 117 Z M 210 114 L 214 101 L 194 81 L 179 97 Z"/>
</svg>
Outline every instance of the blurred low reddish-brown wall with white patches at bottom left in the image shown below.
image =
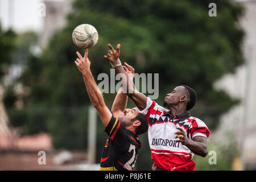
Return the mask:
<svg viewBox="0 0 256 182">
<path fill-rule="evenodd" d="M 98 170 L 100 164 L 86 164 L 82 151 L 45 151 L 41 163 L 39 151 L 8 151 L 0 153 L 0 170 Z"/>
</svg>

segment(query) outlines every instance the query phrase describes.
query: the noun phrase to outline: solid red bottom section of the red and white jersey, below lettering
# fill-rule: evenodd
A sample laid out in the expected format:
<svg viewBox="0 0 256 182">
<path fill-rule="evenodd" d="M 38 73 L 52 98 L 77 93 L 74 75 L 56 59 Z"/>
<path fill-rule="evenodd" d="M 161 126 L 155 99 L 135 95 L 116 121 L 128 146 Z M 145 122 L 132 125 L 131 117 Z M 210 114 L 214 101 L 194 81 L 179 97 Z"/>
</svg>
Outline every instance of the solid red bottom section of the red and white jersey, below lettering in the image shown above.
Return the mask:
<svg viewBox="0 0 256 182">
<path fill-rule="evenodd" d="M 189 158 L 174 154 L 154 154 L 152 159 L 160 169 L 170 171 L 176 167 L 175 171 L 195 171 L 196 163 Z"/>
</svg>

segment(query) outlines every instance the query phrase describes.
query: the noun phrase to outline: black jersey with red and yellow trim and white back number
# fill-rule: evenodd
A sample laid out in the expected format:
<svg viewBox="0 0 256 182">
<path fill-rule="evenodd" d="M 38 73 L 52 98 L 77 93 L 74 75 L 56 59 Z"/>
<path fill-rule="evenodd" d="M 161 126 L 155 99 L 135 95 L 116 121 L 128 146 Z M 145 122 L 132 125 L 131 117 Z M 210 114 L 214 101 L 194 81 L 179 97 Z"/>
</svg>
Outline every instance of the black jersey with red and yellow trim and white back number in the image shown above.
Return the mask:
<svg viewBox="0 0 256 182">
<path fill-rule="evenodd" d="M 110 119 L 105 132 L 109 135 L 101 157 L 101 171 L 132 170 L 138 156 L 141 142 L 135 131 L 126 129 L 122 122 Z"/>
</svg>

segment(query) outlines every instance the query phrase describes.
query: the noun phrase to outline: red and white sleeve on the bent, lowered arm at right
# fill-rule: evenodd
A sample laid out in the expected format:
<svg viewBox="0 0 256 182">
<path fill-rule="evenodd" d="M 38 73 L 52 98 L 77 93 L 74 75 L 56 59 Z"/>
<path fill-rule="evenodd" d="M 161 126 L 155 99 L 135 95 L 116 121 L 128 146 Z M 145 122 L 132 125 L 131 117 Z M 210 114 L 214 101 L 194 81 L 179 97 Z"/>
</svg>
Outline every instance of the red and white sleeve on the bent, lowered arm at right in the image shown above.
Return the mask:
<svg viewBox="0 0 256 182">
<path fill-rule="evenodd" d="M 192 125 L 189 129 L 189 135 L 192 139 L 197 136 L 208 138 L 210 131 L 203 121 L 196 118 L 192 121 Z"/>
</svg>

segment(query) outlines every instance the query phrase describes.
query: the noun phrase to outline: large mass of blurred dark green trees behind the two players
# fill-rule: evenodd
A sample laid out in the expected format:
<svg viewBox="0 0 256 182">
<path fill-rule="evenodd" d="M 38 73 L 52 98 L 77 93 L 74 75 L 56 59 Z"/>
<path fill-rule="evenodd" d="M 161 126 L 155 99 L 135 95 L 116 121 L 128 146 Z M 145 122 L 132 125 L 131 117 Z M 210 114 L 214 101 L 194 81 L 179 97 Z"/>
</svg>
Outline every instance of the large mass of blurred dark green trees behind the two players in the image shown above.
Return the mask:
<svg viewBox="0 0 256 182">
<path fill-rule="evenodd" d="M 31 53 L 30 45 L 38 39 L 34 35 L 20 40 L 27 46 L 19 47 L 18 55 L 26 54 L 19 60 L 24 70 L 17 82 L 29 88 L 29 92 L 19 98 L 24 104 L 22 109 L 15 106 L 15 94 L 5 100 L 12 125 L 22 127 L 24 134 L 51 133 L 55 148 L 86 148 L 86 106 L 90 101 L 74 63 L 76 51 L 84 50 L 73 44 L 71 36 L 76 26 L 88 23 L 99 34 L 97 45 L 89 49 L 96 82 L 98 74 L 110 73 L 110 65 L 103 57 L 109 49 L 107 44 L 115 47 L 121 43 L 121 60 L 134 66 L 137 73 L 159 73 L 159 104 L 175 86 L 192 86 L 199 99 L 191 114 L 207 123 L 212 131 L 220 115 L 239 102 L 224 91 L 215 90 L 213 84 L 243 64 L 244 33 L 238 24 L 243 13 L 238 3 L 215 1 L 217 17 L 209 17 L 210 2 L 74 1 L 67 25 L 56 32 L 42 55 Z M 114 96 L 104 94 L 109 108 Z M 129 101 L 127 107 L 132 106 Z M 107 136 L 98 120 L 97 147 L 102 148 Z M 140 138 L 137 169 L 151 169 L 147 135 Z M 101 150 L 97 150 L 97 162 L 100 155 Z"/>
</svg>

